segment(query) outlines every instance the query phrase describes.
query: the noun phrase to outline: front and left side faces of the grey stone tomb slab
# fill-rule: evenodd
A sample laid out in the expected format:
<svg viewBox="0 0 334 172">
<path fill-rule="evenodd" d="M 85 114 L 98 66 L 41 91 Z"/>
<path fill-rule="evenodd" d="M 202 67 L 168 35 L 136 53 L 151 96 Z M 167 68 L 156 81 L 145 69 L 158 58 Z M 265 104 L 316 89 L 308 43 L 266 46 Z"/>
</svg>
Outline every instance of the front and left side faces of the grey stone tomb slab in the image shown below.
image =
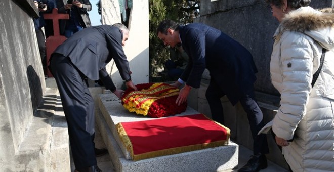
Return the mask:
<svg viewBox="0 0 334 172">
<path fill-rule="evenodd" d="M 100 109 L 96 111 L 96 123 L 109 151 L 115 171 L 226 171 L 227 169 L 235 168 L 238 164 L 239 147 L 231 141 L 228 146 L 149 158 L 140 161 L 127 160 Z"/>
</svg>

